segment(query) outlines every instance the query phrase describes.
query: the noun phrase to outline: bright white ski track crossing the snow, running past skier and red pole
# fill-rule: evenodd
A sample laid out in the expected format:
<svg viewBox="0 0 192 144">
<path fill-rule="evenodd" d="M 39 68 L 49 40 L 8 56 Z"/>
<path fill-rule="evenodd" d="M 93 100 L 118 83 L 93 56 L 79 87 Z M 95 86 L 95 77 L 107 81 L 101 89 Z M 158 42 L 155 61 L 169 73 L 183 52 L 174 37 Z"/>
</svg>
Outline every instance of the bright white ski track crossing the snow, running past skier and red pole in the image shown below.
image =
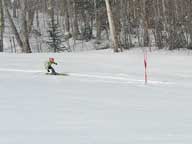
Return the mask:
<svg viewBox="0 0 192 144">
<path fill-rule="evenodd" d="M 19 72 L 19 73 L 44 73 L 43 70 L 24 70 L 24 69 L 10 69 L 10 68 L 0 68 L 1 72 Z M 83 73 L 67 73 L 69 76 L 72 77 L 80 77 L 80 78 L 93 78 L 94 80 L 97 79 L 99 82 L 108 82 L 108 83 L 114 83 L 114 82 L 121 82 L 121 83 L 129 83 L 129 84 L 134 84 L 134 83 L 139 83 L 139 84 L 144 84 L 144 80 L 139 80 L 139 79 L 133 79 L 133 78 L 128 78 L 128 74 L 107 74 L 106 73 L 98 73 L 98 74 L 83 74 Z M 174 82 L 166 82 L 166 81 L 157 81 L 157 80 L 149 80 L 149 84 L 154 84 L 154 85 L 173 85 L 175 84 Z"/>
</svg>

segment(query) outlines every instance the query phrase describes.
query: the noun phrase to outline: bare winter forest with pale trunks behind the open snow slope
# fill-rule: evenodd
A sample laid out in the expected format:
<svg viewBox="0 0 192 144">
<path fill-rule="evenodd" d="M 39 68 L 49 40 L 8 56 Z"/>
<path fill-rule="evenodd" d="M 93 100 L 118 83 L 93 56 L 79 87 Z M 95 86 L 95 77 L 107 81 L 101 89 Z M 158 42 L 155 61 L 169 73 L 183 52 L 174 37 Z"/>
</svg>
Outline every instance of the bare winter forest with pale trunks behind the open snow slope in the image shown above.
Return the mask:
<svg viewBox="0 0 192 144">
<path fill-rule="evenodd" d="M 192 0 L 0 0 L 0 52 L 192 49 Z"/>
</svg>

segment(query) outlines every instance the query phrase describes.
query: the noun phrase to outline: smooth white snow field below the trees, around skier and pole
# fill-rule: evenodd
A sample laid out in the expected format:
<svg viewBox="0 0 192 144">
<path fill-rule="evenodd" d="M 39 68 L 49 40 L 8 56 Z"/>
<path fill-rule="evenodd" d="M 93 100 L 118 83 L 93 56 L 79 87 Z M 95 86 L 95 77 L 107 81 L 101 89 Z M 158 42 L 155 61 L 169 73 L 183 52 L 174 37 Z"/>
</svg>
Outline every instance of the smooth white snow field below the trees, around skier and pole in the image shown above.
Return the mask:
<svg viewBox="0 0 192 144">
<path fill-rule="evenodd" d="M 44 74 L 55 57 L 58 72 Z M 0 54 L 0 144 L 191 144 L 192 54 Z"/>
</svg>

